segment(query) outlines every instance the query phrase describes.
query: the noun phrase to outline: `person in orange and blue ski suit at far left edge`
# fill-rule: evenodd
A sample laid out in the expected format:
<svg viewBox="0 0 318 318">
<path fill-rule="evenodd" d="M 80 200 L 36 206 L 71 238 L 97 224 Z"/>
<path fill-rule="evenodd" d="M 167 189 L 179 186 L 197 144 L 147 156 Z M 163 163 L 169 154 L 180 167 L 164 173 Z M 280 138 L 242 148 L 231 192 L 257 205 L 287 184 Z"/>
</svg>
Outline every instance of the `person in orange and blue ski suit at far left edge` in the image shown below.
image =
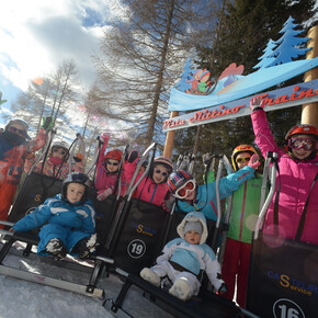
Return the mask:
<svg viewBox="0 0 318 318">
<path fill-rule="evenodd" d="M 0 219 L 8 219 L 25 158 L 45 145 L 46 129 L 49 129 L 50 124 L 52 117 L 46 117 L 34 140 L 30 140 L 29 125 L 23 120 L 11 120 L 4 130 L 0 130 Z"/>
</svg>

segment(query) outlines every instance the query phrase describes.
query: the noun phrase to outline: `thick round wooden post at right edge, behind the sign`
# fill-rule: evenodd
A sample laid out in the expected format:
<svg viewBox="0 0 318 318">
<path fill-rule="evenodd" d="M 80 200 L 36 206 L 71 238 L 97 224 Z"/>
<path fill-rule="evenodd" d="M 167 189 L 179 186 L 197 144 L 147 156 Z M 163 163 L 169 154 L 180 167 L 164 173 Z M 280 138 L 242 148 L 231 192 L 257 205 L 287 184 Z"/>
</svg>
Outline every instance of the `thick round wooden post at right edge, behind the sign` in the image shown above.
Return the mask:
<svg viewBox="0 0 318 318">
<path fill-rule="evenodd" d="M 318 56 L 318 25 L 313 26 L 308 31 L 308 37 L 311 39 L 308 41 L 307 47 L 313 47 L 307 52 L 306 58 L 314 58 Z M 305 72 L 304 81 L 310 81 L 318 78 L 318 67 L 310 69 Z M 303 105 L 302 109 L 302 124 L 310 124 L 318 127 L 318 103 L 310 103 Z"/>
</svg>

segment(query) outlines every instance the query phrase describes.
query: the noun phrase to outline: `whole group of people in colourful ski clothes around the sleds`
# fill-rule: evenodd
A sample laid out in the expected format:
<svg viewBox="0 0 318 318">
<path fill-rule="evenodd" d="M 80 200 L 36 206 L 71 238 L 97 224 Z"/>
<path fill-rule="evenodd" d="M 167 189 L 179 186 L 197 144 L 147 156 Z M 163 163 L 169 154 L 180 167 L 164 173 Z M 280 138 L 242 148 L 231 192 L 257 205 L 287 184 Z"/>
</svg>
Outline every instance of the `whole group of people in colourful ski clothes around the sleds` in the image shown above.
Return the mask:
<svg viewBox="0 0 318 318">
<path fill-rule="evenodd" d="M 300 240 L 318 245 L 316 231 L 318 197 L 314 195 L 314 193 L 318 193 L 316 182 L 318 174 L 317 128 L 313 125 L 293 127 L 286 135 L 285 149 L 281 150 L 269 128 L 263 111 L 264 105 L 264 101 L 259 99 L 253 99 L 250 104 L 255 144 L 264 157 L 266 151 L 279 152 L 280 169 L 277 189 L 266 214 L 263 230 L 273 234 L 274 228 L 277 227 L 280 236 L 295 239 L 300 218 L 305 217 Z M 11 193 L 14 194 L 14 186 L 19 183 L 26 154 L 34 152 L 44 145 L 44 134 L 45 132 L 41 130 L 36 140 L 26 141 L 27 125 L 24 122 L 13 120 L 7 124 L 4 132 L 0 134 L 1 197 L 7 195 L 8 184 L 11 185 L 8 188 L 13 189 Z M 99 201 L 103 201 L 118 191 L 116 182 L 123 152 L 120 149 L 106 151 L 109 139 L 109 134 L 101 135 L 103 145 L 96 162 L 94 183 Z M 10 172 L 12 158 L 16 158 L 16 155 L 12 155 L 13 151 L 15 151 L 14 154 L 20 151 L 20 170 L 15 169 Z M 47 166 L 46 170 L 48 174 L 49 171 L 55 171 L 58 164 L 64 164 L 67 156 L 67 147 L 61 144 L 53 144 L 49 155 L 50 168 Z M 125 158 L 120 178 L 121 195 L 125 194 L 138 160 L 137 151 L 132 151 L 128 158 Z M 232 299 L 237 285 L 236 300 L 241 307 L 245 307 L 252 231 L 260 207 L 262 175 L 255 172 L 260 161 L 251 145 L 236 147 L 231 161 L 235 172 L 219 181 L 220 198 L 234 194 L 222 270 L 215 253 L 205 243 L 208 235 L 206 218 L 217 219 L 214 181 L 198 185 L 191 173 L 185 170 L 173 171 L 171 159 L 159 156 L 155 158 L 148 175 L 141 180 L 134 192 L 134 197 L 162 208 L 167 208 L 166 202 L 172 196 L 177 202 L 175 208 L 185 213 L 184 219 L 178 226 L 180 238 L 168 242 L 156 264 L 145 268 L 140 272 L 143 279 L 156 286 L 160 286 L 161 279 L 168 276 L 172 285 L 169 293 L 182 300 L 197 295 L 202 274 L 206 272 L 214 288 L 229 299 Z M 3 169 L 5 167 L 7 170 Z M 41 254 L 64 258 L 66 253 L 71 253 L 86 258 L 94 251 L 96 245 L 95 215 L 92 203 L 88 198 L 89 179 L 82 173 L 81 167 L 78 164 L 77 172 L 67 177 L 60 173 L 60 178 L 64 179 L 61 194 L 46 200 L 11 229 L 12 231 L 25 231 L 42 226 L 38 245 Z M 14 174 L 14 171 L 18 172 Z M 137 175 L 137 180 L 140 178 L 141 173 Z M 13 179 L 14 182 L 12 182 Z M 13 184 L 14 186 L 12 186 Z M 7 218 L 8 211 L 8 206 L 7 209 L 0 208 L 2 219 Z M 279 211 L 277 218 L 276 211 Z M 279 224 L 276 219 L 279 219 Z"/>
</svg>

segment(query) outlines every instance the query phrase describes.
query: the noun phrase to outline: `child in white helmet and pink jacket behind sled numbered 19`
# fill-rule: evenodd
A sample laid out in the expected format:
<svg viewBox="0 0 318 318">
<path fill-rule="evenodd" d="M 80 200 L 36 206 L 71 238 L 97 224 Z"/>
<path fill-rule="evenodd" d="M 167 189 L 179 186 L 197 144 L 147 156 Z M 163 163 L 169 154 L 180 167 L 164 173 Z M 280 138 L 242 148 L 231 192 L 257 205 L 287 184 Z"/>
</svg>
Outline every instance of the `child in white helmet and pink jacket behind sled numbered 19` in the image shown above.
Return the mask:
<svg viewBox="0 0 318 318">
<path fill-rule="evenodd" d="M 132 151 L 128 160 L 125 162 L 126 181 L 129 183 L 136 170 L 138 162 L 138 152 Z M 167 209 L 167 200 L 170 196 L 167 179 L 172 172 L 173 163 L 171 159 L 158 156 L 154 160 L 154 164 L 149 170 L 149 174 L 143 179 L 134 193 L 134 197 L 145 202 L 152 203 Z M 136 182 L 141 178 L 139 173 Z"/>
</svg>

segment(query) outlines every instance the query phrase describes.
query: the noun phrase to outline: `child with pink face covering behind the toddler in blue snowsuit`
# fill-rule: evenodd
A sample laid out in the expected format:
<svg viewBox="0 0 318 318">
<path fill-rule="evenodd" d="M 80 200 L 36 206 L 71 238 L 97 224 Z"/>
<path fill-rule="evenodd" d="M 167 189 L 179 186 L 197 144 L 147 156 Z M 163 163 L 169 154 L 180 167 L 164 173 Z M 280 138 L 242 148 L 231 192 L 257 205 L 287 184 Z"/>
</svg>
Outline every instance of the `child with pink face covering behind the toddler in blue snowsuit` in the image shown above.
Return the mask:
<svg viewBox="0 0 318 318">
<path fill-rule="evenodd" d="M 67 162 L 68 156 L 69 145 L 64 140 L 55 141 L 50 147 L 48 159 L 45 160 L 44 163 L 43 160 L 41 160 L 36 167 L 33 168 L 33 171 L 64 180 L 70 173 Z M 73 159 L 75 164 L 72 166 L 72 171 L 83 172 L 83 149 L 81 149 Z M 36 158 L 34 156 L 26 158 L 24 170 L 29 172 L 35 161 Z"/>
</svg>

